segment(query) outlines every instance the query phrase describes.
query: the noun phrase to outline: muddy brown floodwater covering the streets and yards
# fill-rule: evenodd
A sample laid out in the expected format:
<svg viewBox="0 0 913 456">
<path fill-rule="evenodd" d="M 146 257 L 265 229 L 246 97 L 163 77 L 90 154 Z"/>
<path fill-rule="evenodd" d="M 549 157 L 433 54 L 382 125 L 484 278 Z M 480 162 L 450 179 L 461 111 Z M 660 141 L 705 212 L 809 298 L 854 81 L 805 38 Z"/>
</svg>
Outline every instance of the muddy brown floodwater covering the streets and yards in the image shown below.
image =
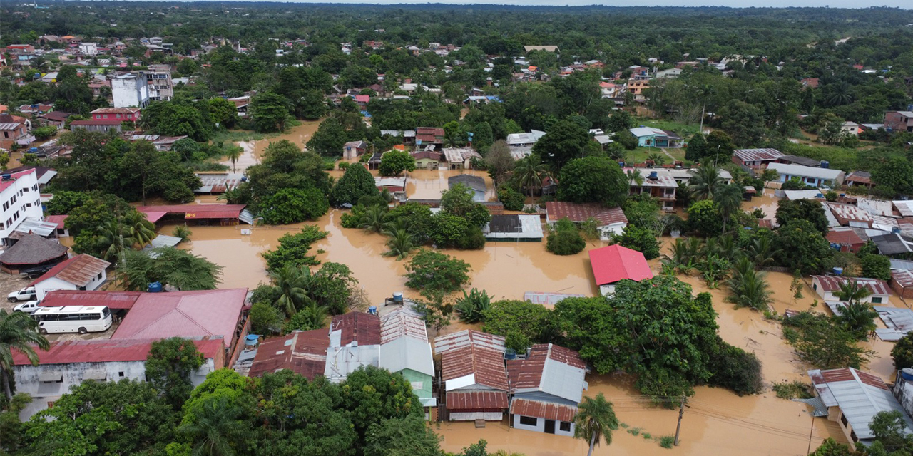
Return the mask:
<svg viewBox="0 0 913 456">
<path fill-rule="evenodd" d="M 316 122 L 296 127 L 286 135 L 272 140 L 290 139 L 303 144 L 316 130 Z M 247 144 L 249 164 L 257 161 L 269 140 Z M 242 163 L 239 161 L 238 165 Z M 407 192 L 413 198 L 437 198 L 446 189 L 446 180 L 460 172 L 471 172 L 491 182 L 480 171 L 414 171 L 408 174 Z M 376 175 L 376 171 L 373 171 Z M 342 171 L 331 171 L 336 177 Z M 488 195 L 489 198 L 493 195 Z M 215 202 L 205 197 L 198 202 Z M 772 190 L 745 202 L 743 209 L 760 208 L 764 218 L 773 218 L 777 199 Z M 381 256 L 386 250 L 386 238 L 380 234 L 364 233 L 361 230 L 343 229 L 340 225 L 341 211 L 333 210 L 313 222 L 327 231 L 326 239 L 313 245 L 311 253 L 317 254 L 321 262 L 336 262 L 348 265 L 359 285 L 374 303 L 395 291 L 404 291 L 406 296 L 416 295 L 404 286 L 404 264 L 393 258 Z M 275 248 L 278 238 L 284 233 L 295 233 L 303 223 L 280 227 L 241 225 L 236 227 L 194 226 L 192 242 L 181 248 L 205 256 L 224 267 L 222 286 L 247 286 L 253 288 L 267 281 L 266 263 L 260 255 Z M 250 230 L 242 234 L 241 230 Z M 173 226 L 163 226 L 161 233 L 171 233 Z M 664 238 L 664 251 L 672 240 Z M 596 295 L 586 251 L 604 243 L 590 243 L 580 254 L 558 256 L 549 254 L 543 243 L 488 243 L 483 250 L 443 250 L 472 266 L 472 282 L 468 287 L 488 291 L 495 299 L 521 299 L 526 291 L 580 293 Z M 318 254 L 318 251 L 322 253 Z M 659 260 L 649 262 L 655 273 L 660 270 Z M 709 455 L 803 455 L 809 447 L 817 447 L 822 440 L 832 437 L 845 441 L 842 432 L 831 421 L 815 419 L 814 423 L 802 403 L 778 399 L 771 391 L 771 383 L 782 380 L 808 382 L 805 371 L 809 368 L 800 362 L 792 348 L 782 338 L 780 325 L 767 320 L 759 312 L 736 309 L 725 302 L 725 287 L 709 289 L 698 276 L 679 275 L 692 285 L 695 293 L 708 292 L 713 296 L 714 308 L 718 312 L 719 335 L 730 344 L 754 353 L 761 359 L 765 391 L 760 395 L 739 397 L 727 389 L 696 389 L 693 398 L 688 399 L 681 428 L 681 444 L 674 450 L 666 450 L 655 439 L 675 434 L 677 410 L 656 409 L 633 389 L 632 381 L 621 375 L 590 375 L 587 377 L 588 396 L 603 393 L 614 402 L 618 420 L 626 427 L 614 431 L 613 443 L 599 447 L 597 455 L 664 455 L 664 454 L 709 454 Z M 806 280 L 803 297 L 793 299 L 790 292 L 792 276 L 783 273 L 768 273 L 774 302 L 772 310 L 782 314 L 787 309 L 812 309 L 828 312 L 823 304 L 814 305 L 817 296 Z M 891 297 L 892 306 L 906 306 L 896 295 Z M 879 326 L 880 320 L 877 321 Z M 467 326 L 454 322 L 442 333 L 453 332 Z M 431 334 L 432 337 L 435 334 Z M 894 370 L 889 356 L 891 343 L 880 340 L 862 342 L 874 350 L 866 370 L 891 381 Z M 584 454 L 586 442 L 567 437 L 540 434 L 525 430 L 512 430 L 506 422 L 488 423 L 484 429 L 476 429 L 474 423 L 442 422 L 433 427 L 443 437 L 442 447 L 446 451 L 460 451 L 479 439 L 488 440 L 488 451 L 515 451 L 527 456 L 552 456 L 562 454 Z M 636 432 L 634 431 L 636 429 Z M 636 435 L 635 435 L 636 434 Z"/>
</svg>

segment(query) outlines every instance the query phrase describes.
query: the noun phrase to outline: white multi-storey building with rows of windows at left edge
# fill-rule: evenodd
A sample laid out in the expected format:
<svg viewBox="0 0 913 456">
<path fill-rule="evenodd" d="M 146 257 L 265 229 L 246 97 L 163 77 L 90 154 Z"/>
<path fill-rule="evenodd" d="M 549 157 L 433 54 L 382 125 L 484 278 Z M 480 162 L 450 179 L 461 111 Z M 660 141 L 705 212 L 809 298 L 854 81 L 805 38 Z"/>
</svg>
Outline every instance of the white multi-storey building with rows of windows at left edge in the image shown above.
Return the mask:
<svg viewBox="0 0 913 456">
<path fill-rule="evenodd" d="M 42 217 L 41 197 L 38 193 L 38 179 L 35 169 L 3 173 L 0 177 L 0 242 L 16 231 L 26 219 L 40 223 Z"/>
</svg>

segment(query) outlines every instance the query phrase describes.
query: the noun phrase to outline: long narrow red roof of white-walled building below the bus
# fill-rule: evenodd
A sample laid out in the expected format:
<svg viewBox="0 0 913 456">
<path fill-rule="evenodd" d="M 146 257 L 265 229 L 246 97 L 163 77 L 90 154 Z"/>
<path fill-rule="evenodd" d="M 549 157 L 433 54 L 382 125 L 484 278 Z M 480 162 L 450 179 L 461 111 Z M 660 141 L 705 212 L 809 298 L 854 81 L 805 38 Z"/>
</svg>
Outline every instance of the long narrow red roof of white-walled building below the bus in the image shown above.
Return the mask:
<svg viewBox="0 0 913 456">
<path fill-rule="evenodd" d="M 50 348 L 36 348 L 38 364 L 101 363 L 112 361 L 142 361 L 146 359 L 152 342 L 158 338 L 136 339 L 94 339 L 52 342 Z M 215 358 L 218 350 L 224 350 L 221 337 L 194 340 L 196 349 L 206 358 Z M 13 364 L 31 364 L 22 353 L 13 351 Z"/>
</svg>

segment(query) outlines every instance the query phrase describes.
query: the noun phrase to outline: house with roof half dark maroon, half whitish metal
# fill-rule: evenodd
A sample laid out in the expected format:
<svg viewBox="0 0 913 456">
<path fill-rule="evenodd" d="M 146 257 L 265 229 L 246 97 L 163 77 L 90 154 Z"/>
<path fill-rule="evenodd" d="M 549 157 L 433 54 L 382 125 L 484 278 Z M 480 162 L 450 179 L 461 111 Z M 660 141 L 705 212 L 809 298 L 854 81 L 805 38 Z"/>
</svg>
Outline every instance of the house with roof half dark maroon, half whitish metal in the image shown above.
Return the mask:
<svg viewBox="0 0 913 456">
<path fill-rule="evenodd" d="M 381 352 L 380 319 L 349 312 L 333 316 L 323 377 L 339 383 L 362 366 L 377 366 Z"/>
</svg>

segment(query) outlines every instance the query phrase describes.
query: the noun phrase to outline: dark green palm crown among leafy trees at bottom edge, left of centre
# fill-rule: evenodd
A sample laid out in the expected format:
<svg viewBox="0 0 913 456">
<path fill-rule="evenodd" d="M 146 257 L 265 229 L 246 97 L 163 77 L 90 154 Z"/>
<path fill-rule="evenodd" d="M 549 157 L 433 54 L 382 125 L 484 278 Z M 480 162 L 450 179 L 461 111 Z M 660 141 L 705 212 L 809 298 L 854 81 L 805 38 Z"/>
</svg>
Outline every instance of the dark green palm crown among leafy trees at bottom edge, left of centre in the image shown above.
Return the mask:
<svg viewBox="0 0 913 456">
<path fill-rule="evenodd" d="M 240 420 L 243 413 L 227 396 L 211 396 L 195 413 L 196 420 L 185 422 L 178 432 L 194 441 L 194 456 L 234 456 L 237 442 L 247 432 L 247 424 Z"/>
</svg>

